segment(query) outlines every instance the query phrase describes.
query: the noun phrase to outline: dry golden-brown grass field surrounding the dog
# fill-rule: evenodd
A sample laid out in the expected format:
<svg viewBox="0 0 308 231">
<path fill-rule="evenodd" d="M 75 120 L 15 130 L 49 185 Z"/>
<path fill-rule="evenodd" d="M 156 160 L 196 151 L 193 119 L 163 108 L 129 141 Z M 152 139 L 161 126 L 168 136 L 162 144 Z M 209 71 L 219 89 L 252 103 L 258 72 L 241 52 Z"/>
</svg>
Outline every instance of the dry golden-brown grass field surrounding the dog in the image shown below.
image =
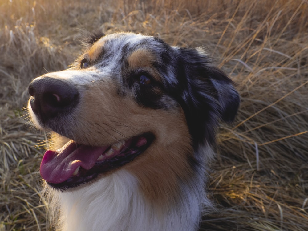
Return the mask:
<svg viewBox="0 0 308 231">
<path fill-rule="evenodd" d="M 65 69 L 97 30 L 203 46 L 237 83 L 241 107 L 211 165 L 217 211 L 200 230 L 308 230 L 306 0 L 0 0 L 0 231 L 52 230 L 27 85 Z"/>
</svg>

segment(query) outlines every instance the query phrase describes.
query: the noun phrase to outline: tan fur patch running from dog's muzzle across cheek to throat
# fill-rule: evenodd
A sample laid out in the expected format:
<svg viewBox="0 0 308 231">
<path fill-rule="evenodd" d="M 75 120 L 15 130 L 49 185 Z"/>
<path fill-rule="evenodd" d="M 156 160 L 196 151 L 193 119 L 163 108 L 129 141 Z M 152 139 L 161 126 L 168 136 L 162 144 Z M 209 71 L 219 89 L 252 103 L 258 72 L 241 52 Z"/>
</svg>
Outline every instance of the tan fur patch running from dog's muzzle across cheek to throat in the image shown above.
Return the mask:
<svg viewBox="0 0 308 231">
<path fill-rule="evenodd" d="M 104 97 L 98 97 L 102 89 Z M 84 96 L 83 110 L 75 115 L 86 126 L 79 128 L 80 139 L 104 146 L 152 132 L 156 139 L 151 146 L 124 168 L 138 178 L 150 203 L 174 202 L 180 192 L 179 179 L 188 180 L 193 174 L 189 165 L 193 150 L 184 112 L 181 108 L 166 111 L 140 107 L 130 97 L 116 94 L 115 89 L 110 83 L 95 84 Z"/>
</svg>

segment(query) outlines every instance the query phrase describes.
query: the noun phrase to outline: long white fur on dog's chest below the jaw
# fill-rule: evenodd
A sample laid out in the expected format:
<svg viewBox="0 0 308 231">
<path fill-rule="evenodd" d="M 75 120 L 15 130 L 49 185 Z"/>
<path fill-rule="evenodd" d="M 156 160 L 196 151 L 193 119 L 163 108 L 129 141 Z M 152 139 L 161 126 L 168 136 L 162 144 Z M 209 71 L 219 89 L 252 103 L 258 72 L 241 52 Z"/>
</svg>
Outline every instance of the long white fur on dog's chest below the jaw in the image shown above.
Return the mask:
<svg viewBox="0 0 308 231">
<path fill-rule="evenodd" d="M 57 230 L 193 231 L 198 228 L 202 204 L 210 205 L 203 200 L 206 199 L 201 186 L 203 179 L 202 182 L 196 179 L 194 185 L 182 185 L 174 206 L 150 204 L 139 189 L 137 178 L 124 169 L 94 182 L 91 187 L 71 192 L 49 186 L 45 189 L 51 201 L 60 206 Z"/>
</svg>

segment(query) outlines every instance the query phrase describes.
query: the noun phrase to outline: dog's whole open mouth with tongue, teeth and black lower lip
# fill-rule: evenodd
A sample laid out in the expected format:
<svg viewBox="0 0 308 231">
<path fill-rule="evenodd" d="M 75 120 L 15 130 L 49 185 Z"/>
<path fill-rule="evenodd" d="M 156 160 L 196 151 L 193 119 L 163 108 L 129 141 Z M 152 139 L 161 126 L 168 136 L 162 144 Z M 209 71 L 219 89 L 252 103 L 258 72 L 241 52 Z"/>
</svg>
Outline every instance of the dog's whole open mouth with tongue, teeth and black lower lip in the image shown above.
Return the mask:
<svg viewBox="0 0 308 231">
<path fill-rule="evenodd" d="M 45 152 L 40 173 L 53 188 L 74 188 L 95 179 L 99 173 L 134 160 L 153 140 L 152 133 L 134 136 L 106 147 L 82 145 L 70 140 L 60 149 Z"/>
</svg>

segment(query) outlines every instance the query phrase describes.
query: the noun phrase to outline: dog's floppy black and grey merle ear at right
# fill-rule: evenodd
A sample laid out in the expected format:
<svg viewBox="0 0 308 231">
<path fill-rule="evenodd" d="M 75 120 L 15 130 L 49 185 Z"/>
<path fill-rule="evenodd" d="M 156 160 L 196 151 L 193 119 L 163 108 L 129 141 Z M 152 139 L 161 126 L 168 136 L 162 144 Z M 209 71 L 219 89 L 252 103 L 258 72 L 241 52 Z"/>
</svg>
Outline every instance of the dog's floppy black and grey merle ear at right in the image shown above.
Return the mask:
<svg viewBox="0 0 308 231">
<path fill-rule="evenodd" d="M 201 48 L 177 48 L 177 78 L 184 110 L 194 145 L 215 143 L 218 120 L 232 122 L 240 97 L 234 83 L 217 68 Z"/>
</svg>

